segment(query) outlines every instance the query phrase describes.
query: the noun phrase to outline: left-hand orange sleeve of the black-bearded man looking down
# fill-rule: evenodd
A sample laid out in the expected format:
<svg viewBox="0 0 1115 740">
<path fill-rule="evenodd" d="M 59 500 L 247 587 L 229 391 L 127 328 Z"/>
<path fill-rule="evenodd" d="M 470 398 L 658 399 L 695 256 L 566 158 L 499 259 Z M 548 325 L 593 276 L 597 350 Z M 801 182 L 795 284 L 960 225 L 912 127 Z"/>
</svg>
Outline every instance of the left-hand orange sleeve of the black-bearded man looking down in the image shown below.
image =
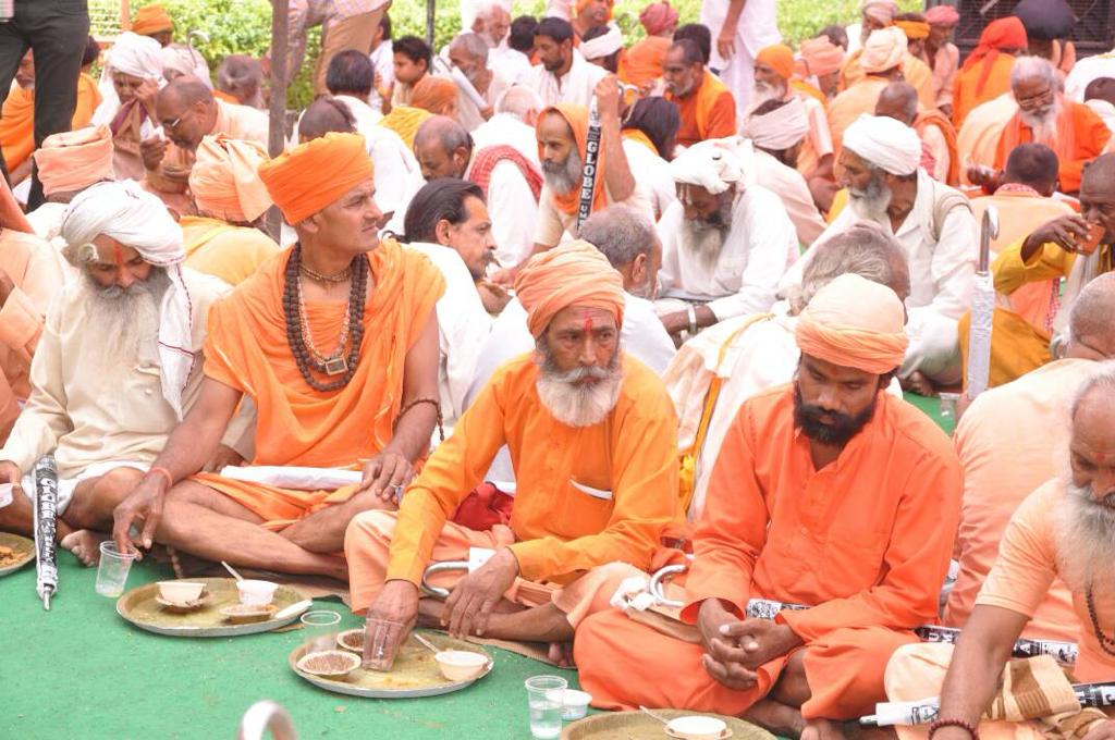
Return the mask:
<svg viewBox="0 0 1115 740">
<path fill-rule="evenodd" d="M 706 598 L 744 619 L 755 563 L 766 544 L 770 512 L 755 477 L 755 434 L 748 405 L 728 427 L 708 483 L 705 512 L 694 532 L 694 562 L 686 580 L 689 603 L 681 620 L 697 622 Z"/>
</svg>

